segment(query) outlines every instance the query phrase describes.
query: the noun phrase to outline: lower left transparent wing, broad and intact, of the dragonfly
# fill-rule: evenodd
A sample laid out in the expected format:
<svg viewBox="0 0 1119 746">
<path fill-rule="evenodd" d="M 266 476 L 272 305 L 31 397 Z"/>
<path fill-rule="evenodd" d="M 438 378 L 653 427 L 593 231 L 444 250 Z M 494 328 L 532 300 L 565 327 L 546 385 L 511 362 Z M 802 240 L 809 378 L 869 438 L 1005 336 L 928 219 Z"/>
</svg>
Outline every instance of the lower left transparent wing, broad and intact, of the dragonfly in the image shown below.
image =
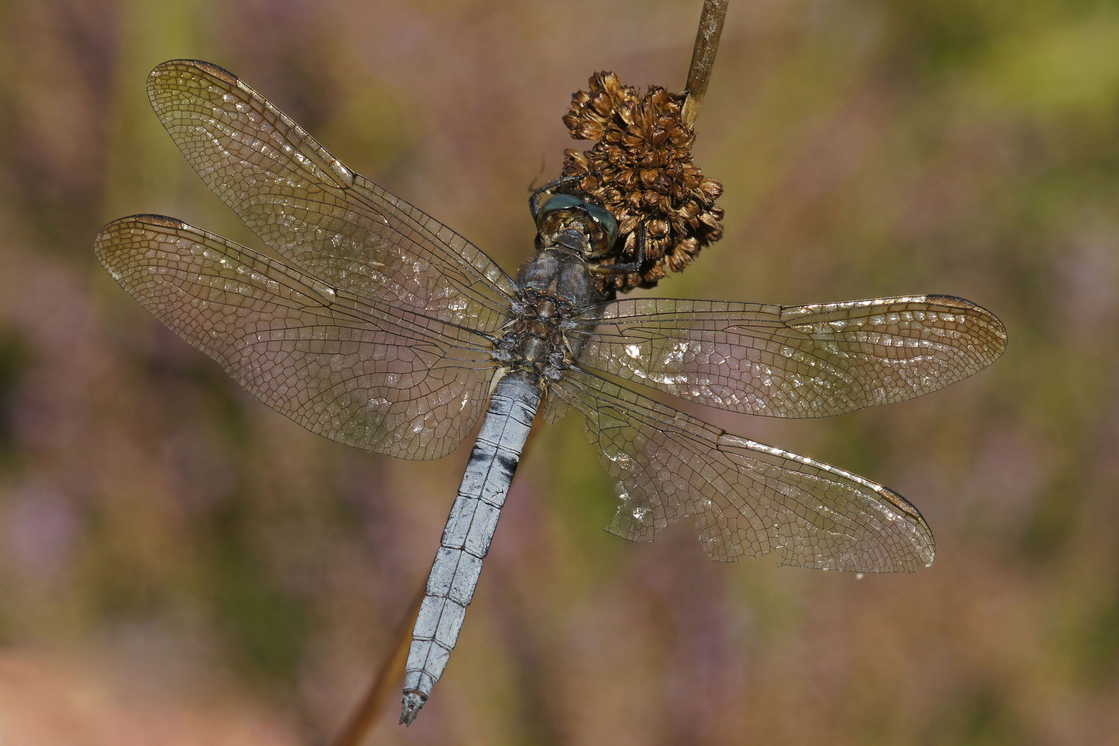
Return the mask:
<svg viewBox="0 0 1119 746">
<path fill-rule="evenodd" d="M 482 412 L 493 363 L 469 328 L 358 298 L 173 218 L 114 220 L 94 249 L 171 331 L 332 441 L 435 459 Z"/>
</svg>

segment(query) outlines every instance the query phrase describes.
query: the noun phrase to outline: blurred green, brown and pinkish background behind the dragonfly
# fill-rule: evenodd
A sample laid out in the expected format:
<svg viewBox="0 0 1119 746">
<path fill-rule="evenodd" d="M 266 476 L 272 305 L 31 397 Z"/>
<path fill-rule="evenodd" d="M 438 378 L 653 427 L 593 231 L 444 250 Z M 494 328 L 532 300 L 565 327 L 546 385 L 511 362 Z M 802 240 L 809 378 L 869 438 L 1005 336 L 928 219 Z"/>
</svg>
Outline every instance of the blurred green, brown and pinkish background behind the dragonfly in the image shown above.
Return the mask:
<svg viewBox="0 0 1119 746">
<path fill-rule="evenodd" d="M 468 455 L 302 431 L 96 265 L 132 213 L 260 245 L 148 72 L 229 68 L 511 271 L 572 92 L 681 88 L 699 4 L 0 2 L 4 746 L 325 743 Z M 375 743 L 1119 743 L 1119 3 L 733 0 L 697 131 L 726 236 L 659 293 L 950 293 L 1006 323 L 1000 361 L 923 399 L 697 413 L 896 489 L 935 564 L 721 566 L 687 525 L 627 544 L 581 423 L 543 426 L 445 677 Z"/>
</svg>

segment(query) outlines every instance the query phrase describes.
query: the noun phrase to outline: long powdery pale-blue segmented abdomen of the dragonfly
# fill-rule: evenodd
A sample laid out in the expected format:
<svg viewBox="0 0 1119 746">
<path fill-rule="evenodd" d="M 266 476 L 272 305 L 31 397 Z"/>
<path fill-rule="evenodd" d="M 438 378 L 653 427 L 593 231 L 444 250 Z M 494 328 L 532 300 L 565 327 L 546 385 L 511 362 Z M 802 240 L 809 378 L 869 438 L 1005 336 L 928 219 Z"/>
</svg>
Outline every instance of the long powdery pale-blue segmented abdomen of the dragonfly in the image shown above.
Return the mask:
<svg viewBox="0 0 1119 746">
<path fill-rule="evenodd" d="M 507 374 L 490 397 L 412 632 L 401 710 L 405 725 L 412 724 L 427 701 L 459 638 L 539 403 L 539 386 L 525 371 Z"/>
</svg>

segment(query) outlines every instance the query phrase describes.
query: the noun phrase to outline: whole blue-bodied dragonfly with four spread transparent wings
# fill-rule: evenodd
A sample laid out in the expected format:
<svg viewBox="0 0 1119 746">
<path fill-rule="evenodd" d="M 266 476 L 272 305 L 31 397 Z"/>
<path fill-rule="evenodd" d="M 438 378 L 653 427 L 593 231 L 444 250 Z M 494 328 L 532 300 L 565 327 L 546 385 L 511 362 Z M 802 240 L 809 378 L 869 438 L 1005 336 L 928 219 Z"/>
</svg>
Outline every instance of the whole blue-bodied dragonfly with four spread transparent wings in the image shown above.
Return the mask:
<svg viewBox="0 0 1119 746">
<path fill-rule="evenodd" d="M 932 564 L 928 523 L 893 490 L 653 397 L 774 417 L 903 402 L 1003 353 L 989 311 L 949 295 L 617 299 L 601 280 L 626 270 L 618 224 L 563 179 L 529 199 L 535 254 L 509 275 L 216 65 L 163 63 L 148 95 L 203 181 L 282 259 L 133 215 L 95 240 L 125 291 L 257 399 L 332 441 L 438 459 L 481 419 L 416 618 L 402 723 L 443 673 L 538 410 L 583 416 L 617 484 L 608 530 L 626 539 L 694 516 L 720 561 Z"/>
</svg>

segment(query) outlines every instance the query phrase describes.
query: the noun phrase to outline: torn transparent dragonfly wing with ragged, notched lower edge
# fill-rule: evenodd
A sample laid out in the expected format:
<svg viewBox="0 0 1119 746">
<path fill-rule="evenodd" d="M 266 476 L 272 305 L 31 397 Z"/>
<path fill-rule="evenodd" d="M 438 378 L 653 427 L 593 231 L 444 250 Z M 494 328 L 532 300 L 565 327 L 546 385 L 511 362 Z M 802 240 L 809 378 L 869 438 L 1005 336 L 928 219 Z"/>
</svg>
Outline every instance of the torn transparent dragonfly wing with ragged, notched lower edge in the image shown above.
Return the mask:
<svg viewBox="0 0 1119 746">
<path fill-rule="evenodd" d="M 932 564 L 932 531 L 896 492 L 787 451 L 732 435 L 596 376 L 568 370 L 549 388 L 586 418 L 618 480 L 609 530 L 650 541 L 696 517 L 712 559 L 777 551 L 782 564 L 861 573 Z"/>
</svg>

